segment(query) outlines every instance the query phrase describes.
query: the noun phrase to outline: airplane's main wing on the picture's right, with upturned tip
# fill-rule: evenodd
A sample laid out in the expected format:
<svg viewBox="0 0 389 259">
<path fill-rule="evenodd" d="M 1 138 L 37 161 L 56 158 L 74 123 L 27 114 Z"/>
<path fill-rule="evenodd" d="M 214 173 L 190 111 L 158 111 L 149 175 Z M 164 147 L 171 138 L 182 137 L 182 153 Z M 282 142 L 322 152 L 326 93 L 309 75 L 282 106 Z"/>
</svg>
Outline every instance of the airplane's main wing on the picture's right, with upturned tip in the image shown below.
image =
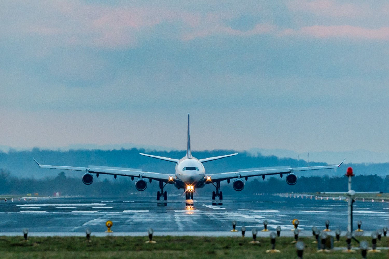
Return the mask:
<svg viewBox="0 0 389 259">
<path fill-rule="evenodd" d="M 344 160 L 343 160 L 344 162 Z M 342 162 L 342 163 L 343 163 Z M 340 165 L 322 165 L 322 166 L 309 166 L 309 167 L 288 167 L 288 168 L 279 168 L 279 169 L 260 169 L 260 170 L 247 170 L 247 171 L 238 171 L 238 172 L 228 172 L 228 173 L 220 173 L 220 174 L 208 174 L 211 182 L 215 181 L 224 181 L 233 178 L 244 178 L 244 177 L 252 177 L 252 176 L 267 176 L 267 175 L 275 175 L 275 174 L 289 174 L 293 172 L 301 172 L 301 171 L 310 171 L 310 170 L 322 170 L 322 169 L 333 169 L 338 168 Z"/>
</svg>

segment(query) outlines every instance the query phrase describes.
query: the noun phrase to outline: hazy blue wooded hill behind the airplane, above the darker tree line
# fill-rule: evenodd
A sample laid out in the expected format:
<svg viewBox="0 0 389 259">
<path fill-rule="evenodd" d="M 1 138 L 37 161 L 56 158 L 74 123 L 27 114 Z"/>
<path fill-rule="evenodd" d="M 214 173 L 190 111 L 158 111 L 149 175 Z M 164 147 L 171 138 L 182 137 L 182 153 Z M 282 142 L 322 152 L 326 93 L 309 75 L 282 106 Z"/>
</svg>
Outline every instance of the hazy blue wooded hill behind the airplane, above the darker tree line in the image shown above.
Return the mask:
<svg viewBox="0 0 389 259">
<path fill-rule="evenodd" d="M 130 167 L 147 170 L 151 172 L 173 173 L 174 164 L 139 155 L 145 152 L 145 149 L 119 149 L 119 150 L 68 150 L 53 151 L 33 148 L 30 151 L 9 151 L 0 152 L 0 168 L 11 172 L 12 176 L 17 177 L 35 177 L 37 179 L 56 176 L 59 170 L 40 169 L 32 160 L 35 158 L 39 163 L 52 165 L 73 165 L 87 167 L 88 165 Z M 186 151 L 150 151 L 152 155 L 167 156 L 172 158 L 181 158 Z M 226 155 L 235 153 L 233 150 L 213 150 L 213 151 L 193 151 L 196 158 L 205 158 L 211 156 Z M 340 163 L 340 158 L 336 163 Z M 231 172 L 238 169 L 253 167 L 285 166 L 304 167 L 314 165 L 326 165 L 322 162 L 310 162 L 293 158 L 278 158 L 277 156 L 252 156 L 251 153 L 241 152 L 237 156 L 224 158 L 207 162 L 206 170 L 209 173 Z M 301 173 L 304 176 L 342 176 L 348 166 L 354 168 L 356 174 L 377 174 L 385 177 L 389 174 L 389 163 L 370 163 L 370 164 L 351 164 L 345 161 L 340 169 L 321 170 L 309 173 Z M 79 177 L 79 172 L 66 172 L 69 176 Z"/>
</svg>

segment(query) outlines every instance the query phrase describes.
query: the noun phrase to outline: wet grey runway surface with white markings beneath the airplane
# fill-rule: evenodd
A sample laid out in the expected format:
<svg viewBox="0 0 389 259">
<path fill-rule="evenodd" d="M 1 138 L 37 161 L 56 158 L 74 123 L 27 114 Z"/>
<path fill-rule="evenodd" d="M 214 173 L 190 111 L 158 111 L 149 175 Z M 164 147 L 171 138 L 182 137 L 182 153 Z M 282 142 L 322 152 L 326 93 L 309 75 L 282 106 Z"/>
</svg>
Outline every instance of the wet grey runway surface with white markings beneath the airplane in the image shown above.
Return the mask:
<svg viewBox="0 0 389 259">
<path fill-rule="evenodd" d="M 347 227 L 347 202 L 345 200 L 312 200 L 274 195 L 251 195 L 230 197 L 223 201 L 212 201 L 207 197 L 195 197 L 186 202 L 182 196 L 169 195 L 169 200 L 157 202 L 154 196 L 129 198 L 34 198 L 14 202 L 0 202 L 0 232 L 93 232 L 106 230 L 105 222 L 114 222 L 112 230 L 118 232 L 154 231 L 228 231 L 231 221 L 237 228 L 268 229 L 277 226 L 293 228 L 291 220 L 300 220 L 299 229 L 310 230 L 312 226 L 324 229 L 325 221 L 330 228 Z M 389 203 L 357 201 L 354 203 L 354 229 L 361 220 L 365 230 L 376 230 L 388 226 Z"/>
</svg>

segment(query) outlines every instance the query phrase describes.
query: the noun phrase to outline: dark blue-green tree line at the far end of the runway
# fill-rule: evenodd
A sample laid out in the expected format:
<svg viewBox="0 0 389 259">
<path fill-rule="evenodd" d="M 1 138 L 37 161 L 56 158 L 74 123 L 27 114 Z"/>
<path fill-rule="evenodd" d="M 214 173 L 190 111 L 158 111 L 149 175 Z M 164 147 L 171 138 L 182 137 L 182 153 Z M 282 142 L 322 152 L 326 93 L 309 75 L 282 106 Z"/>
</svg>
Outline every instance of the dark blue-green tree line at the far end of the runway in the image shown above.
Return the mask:
<svg viewBox="0 0 389 259">
<path fill-rule="evenodd" d="M 112 177 L 113 178 L 113 177 Z M 355 191 L 382 191 L 389 192 L 389 175 L 380 177 L 376 174 L 358 175 L 353 177 L 353 189 Z M 290 186 L 285 177 L 268 177 L 263 181 L 261 177 L 249 178 L 243 191 L 237 192 L 226 181 L 222 182 L 221 190 L 225 194 L 247 195 L 251 193 L 284 193 L 284 192 L 316 192 L 316 191 L 345 191 L 347 190 L 347 178 L 345 176 L 301 176 L 297 183 Z M 90 196 L 131 196 L 131 195 L 155 195 L 158 191 L 158 182 L 147 182 L 144 192 L 135 188 L 135 180 L 130 177 L 117 177 L 117 179 L 96 178 L 87 186 L 79 177 L 68 177 L 65 172 L 60 172 L 56 177 L 42 179 L 19 178 L 12 176 L 8 170 L 0 169 L 0 194 L 18 195 L 26 193 L 39 193 L 39 195 L 51 196 L 60 192 L 62 195 L 90 195 Z M 183 189 L 177 190 L 172 185 L 166 186 L 169 193 L 183 193 Z M 209 195 L 214 191 L 211 184 L 205 188 L 197 189 L 199 195 Z"/>
</svg>

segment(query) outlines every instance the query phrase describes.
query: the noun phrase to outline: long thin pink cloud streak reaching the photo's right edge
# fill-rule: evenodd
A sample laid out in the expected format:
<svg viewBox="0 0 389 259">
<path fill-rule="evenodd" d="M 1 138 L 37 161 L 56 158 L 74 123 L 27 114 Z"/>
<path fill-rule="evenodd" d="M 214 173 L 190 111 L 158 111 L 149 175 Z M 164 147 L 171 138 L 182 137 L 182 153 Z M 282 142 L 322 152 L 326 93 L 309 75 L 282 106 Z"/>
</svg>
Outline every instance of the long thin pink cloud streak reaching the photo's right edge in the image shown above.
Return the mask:
<svg viewBox="0 0 389 259">
<path fill-rule="evenodd" d="M 287 29 L 279 33 L 285 35 L 303 35 L 315 38 L 353 38 L 353 39 L 374 39 L 389 40 L 389 27 L 379 29 L 366 29 L 350 25 L 341 26 L 307 26 L 299 30 Z"/>
</svg>

